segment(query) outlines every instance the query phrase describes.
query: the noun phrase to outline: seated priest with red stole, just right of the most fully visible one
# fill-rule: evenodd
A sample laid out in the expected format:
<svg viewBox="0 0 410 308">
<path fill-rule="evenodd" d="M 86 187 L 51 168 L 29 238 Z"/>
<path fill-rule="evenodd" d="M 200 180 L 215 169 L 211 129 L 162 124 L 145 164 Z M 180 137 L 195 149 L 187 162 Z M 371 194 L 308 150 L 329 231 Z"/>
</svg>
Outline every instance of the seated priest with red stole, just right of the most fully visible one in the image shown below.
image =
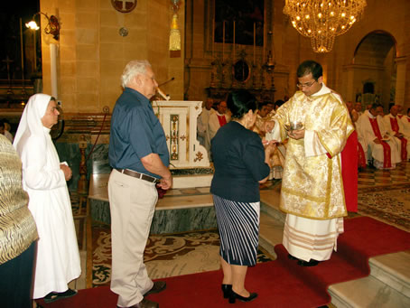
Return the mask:
<svg viewBox="0 0 410 308">
<path fill-rule="evenodd" d="M 390 107 L 390 113 L 383 117 L 385 126 L 387 127 L 388 135 L 393 136 L 398 145 L 400 145 L 400 158 L 402 161 L 406 161 L 410 156 L 410 135 L 405 135 L 405 126 L 398 117 L 399 107 L 393 105 Z"/>
</svg>

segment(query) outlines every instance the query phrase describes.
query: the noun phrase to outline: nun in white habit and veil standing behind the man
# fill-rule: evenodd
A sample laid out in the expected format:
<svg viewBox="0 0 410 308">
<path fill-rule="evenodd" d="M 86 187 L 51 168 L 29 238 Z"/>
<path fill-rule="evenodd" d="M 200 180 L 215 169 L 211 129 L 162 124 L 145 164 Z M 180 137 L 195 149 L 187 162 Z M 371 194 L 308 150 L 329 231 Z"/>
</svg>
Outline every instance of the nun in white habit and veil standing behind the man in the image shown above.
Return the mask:
<svg viewBox="0 0 410 308">
<path fill-rule="evenodd" d="M 60 163 L 51 141 L 59 111 L 54 98 L 33 95 L 23 111 L 14 147 L 23 163 L 23 189 L 28 192 L 39 241 L 33 298 L 51 303 L 77 294 L 68 283 L 79 277 L 79 247 L 67 182 L 70 167 Z"/>
</svg>

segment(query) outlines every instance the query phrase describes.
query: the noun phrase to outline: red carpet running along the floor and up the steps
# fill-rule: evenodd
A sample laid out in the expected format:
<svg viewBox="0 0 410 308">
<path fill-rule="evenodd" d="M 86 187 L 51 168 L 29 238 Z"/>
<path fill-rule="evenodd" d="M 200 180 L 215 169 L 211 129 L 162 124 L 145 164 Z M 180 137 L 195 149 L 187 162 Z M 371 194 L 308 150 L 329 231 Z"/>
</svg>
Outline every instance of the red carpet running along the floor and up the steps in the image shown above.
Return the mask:
<svg viewBox="0 0 410 308">
<path fill-rule="evenodd" d="M 333 253 L 330 261 L 314 267 L 297 266 L 296 261 L 287 258 L 284 247 L 277 245 L 277 260 L 248 269 L 247 288 L 259 296 L 251 303 L 237 302 L 236 307 L 302 308 L 330 303 L 328 285 L 368 275 L 368 257 L 406 249 L 410 249 L 410 233 L 368 217 L 346 219 L 338 252 Z M 221 279 L 221 271 L 165 278 L 167 290 L 147 298 L 160 303 L 161 308 L 229 307 L 221 295 Z M 44 308 L 112 308 L 116 307 L 116 294 L 102 286 L 80 290 L 67 300 L 41 304 Z"/>
</svg>

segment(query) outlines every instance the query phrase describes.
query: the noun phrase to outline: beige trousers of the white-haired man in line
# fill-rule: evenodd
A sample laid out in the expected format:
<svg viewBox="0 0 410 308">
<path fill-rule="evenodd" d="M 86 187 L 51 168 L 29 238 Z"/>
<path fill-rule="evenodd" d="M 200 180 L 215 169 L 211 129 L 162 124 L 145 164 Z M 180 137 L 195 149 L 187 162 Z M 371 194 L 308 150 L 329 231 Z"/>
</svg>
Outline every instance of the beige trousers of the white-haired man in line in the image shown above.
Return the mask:
<svg viewBox="0 0 410 308">
<path fill-rule="evenodd" d="M 140 303 L 154 283 L 144 265 L 144 248 L 154 216 L 158 192 L 154 183 L 119 173 L 108 180 L 111 210 L 111 290 L 119 307 Z"/>
</svg>

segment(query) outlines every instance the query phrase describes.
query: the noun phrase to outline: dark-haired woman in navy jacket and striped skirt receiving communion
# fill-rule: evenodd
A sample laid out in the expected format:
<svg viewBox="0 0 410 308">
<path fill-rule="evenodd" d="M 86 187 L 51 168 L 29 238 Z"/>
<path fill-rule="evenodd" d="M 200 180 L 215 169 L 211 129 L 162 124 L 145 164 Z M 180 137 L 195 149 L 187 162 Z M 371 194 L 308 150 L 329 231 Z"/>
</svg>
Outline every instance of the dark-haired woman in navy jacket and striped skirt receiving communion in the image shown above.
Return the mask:
<svg viewBox="0 0 410 308">
<path fill-rule="evenodd" d="M 252 127 L 256 99 L 247 90 L 232 92 L 227 100 L 232 120 L 211 140 L 215 166 L 213 194 L 220 237 L 222 291 L 229 303 L 249 302 L 257 294 L 245 288 L 247 266 L 256 265 L 259 238 L 259 183 L 270 172 L 269 156 L 275 145 L 262 145 Z"/>
</svg>

